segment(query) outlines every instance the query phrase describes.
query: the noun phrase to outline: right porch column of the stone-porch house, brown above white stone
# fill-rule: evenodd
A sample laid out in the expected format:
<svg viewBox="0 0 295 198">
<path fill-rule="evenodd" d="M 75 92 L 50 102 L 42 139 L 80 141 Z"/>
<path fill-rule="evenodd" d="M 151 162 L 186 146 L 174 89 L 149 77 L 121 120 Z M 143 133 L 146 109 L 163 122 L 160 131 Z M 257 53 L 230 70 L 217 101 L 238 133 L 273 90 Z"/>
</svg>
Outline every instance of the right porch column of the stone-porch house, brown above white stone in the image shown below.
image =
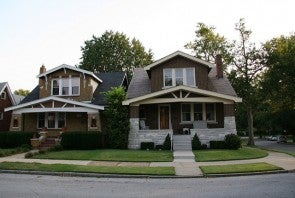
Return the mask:
<svg viewBox="0 0 295 198">
<path fill-rule="evenodd" d="M 234 104 L 224 104 L 224 128 L 237 134 Z"/>
</svg>

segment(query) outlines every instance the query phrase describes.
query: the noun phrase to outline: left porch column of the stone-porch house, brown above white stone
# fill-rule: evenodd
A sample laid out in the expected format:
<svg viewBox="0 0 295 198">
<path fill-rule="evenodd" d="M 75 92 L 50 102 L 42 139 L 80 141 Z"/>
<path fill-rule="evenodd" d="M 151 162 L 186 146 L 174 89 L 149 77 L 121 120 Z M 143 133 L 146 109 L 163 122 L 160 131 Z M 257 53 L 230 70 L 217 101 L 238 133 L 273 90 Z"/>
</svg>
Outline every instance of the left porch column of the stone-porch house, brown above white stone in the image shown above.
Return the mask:
<svg viewBox="0 0 295 198">
<path fill-rule="evenodd" d="M 139 106 L 129 106 L 130 115 L 130 131 L 128 137 L 128 148 L 129 149 L 139 149 Z"/>
</svg>

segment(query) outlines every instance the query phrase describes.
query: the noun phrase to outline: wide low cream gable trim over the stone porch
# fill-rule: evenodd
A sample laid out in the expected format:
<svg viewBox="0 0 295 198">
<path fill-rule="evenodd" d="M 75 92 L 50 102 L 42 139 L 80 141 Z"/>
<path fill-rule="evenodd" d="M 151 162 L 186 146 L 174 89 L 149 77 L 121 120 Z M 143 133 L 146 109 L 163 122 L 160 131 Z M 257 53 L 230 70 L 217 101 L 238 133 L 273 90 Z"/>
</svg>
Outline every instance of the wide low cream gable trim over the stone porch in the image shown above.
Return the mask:
<svg viewBox="0 0 295 198">
<path fill-rule="evenodd" d="M 125 101 L 123 101 L 123 105 L 130 105 L 131 103 L 136 103 L 136 102 L 140 102 L 143 100 L 159 97 L 159 96 L 162 96 L 162 95 L 165 95 L 168 93 L 173 93 L 175 91 L 180 91 L 180 90 L 193 92 L 193 93 L 201 94 L 201 95 L 205 95 L 205 96 L 211 96 L 211 97 L 215 97 L 215 98 L 230 100 L 230 101 L 234 101 L 234 102 L 242 102 L 242 99 L 239 97 L 236 97 L 236 96 L 230 96 L 230 95 L 225 95 L 225 94 L 221 94 L 221 93 L 217 93 L 217 92 L 213 92 L 213 91 L 208 91 L 205 89 L 199 89 L 196 87 L 189 87 L 189 86 L 180 85 L 180 86 L 174 86 L 171 88 L 163 89 L 161 91 L 149 93 L 146 95 L 142 95 L 142 96 L 132 98 L 129 100 L 125 100 Z"/>
</svg>

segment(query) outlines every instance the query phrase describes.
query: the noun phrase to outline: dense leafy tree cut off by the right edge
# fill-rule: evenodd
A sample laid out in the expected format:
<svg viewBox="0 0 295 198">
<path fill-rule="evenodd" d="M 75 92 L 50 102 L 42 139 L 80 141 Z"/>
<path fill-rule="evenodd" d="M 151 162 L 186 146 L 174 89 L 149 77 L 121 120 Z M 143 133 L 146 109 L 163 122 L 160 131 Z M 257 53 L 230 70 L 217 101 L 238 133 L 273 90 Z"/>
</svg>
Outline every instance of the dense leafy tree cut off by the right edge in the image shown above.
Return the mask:
<svg viewBox="0 0 295 198">
<path fill-rule="evenodd" d="M 269 105 L 276 128 L 293 133 L 295 140 L 295 33 L 267 41 L 264 45 L 267 70 L 261 92 Z"/>
</svg>

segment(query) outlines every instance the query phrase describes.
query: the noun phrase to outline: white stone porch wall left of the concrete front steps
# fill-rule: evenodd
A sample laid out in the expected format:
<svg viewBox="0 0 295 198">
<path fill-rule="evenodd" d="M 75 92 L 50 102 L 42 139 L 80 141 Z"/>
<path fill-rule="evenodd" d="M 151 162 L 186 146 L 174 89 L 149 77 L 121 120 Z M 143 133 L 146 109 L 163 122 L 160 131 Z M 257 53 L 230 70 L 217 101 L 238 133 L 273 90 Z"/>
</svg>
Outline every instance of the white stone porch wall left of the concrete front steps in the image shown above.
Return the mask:
<svg viewBox="0 0 295 198">
<path fill-rule="evenodd" d="M 141 142 L 154 142 L 155 145 L 162 145 L 167 134 L 173 133 L 168 130 L 139 130 L 139 118 L 130 118 L 129 149 L 140 149 Z"/>
</svg>

